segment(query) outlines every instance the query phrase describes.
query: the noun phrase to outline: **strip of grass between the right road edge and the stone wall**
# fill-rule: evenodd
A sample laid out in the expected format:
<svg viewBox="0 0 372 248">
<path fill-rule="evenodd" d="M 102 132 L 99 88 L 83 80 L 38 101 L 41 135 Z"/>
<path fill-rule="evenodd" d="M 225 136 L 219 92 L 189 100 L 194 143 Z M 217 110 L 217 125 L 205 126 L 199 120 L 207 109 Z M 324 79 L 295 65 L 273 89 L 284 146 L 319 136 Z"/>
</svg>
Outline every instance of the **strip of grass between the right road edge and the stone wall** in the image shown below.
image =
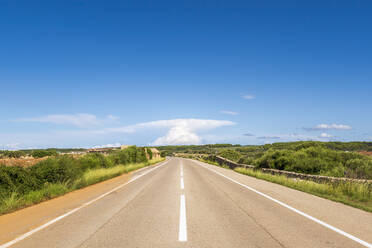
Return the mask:
<svg viewBox="0 0 372 248">
<path fill-rule="evenodd" d="M 371 184 L 351 182 L 315 183 L 313 181 L 296 180 L 285 176 L 267 174 L 253 169 L 235 168 L 235 171 L 372 212 Z"/>
</svg>

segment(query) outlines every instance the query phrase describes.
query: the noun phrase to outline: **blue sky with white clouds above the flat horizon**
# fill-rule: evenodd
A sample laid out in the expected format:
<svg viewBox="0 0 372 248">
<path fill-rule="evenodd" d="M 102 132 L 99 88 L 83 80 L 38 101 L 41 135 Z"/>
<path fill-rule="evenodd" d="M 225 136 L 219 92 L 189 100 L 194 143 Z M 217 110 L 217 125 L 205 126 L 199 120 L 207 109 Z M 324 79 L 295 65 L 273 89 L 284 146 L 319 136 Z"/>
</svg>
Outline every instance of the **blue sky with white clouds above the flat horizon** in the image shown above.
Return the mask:
<svg viewBox="0 0 372 248">
<path fill-rule="evenodd" d="M 372 140 L 370 1 L 0 0 L 0 149 Z"/>
</svg>

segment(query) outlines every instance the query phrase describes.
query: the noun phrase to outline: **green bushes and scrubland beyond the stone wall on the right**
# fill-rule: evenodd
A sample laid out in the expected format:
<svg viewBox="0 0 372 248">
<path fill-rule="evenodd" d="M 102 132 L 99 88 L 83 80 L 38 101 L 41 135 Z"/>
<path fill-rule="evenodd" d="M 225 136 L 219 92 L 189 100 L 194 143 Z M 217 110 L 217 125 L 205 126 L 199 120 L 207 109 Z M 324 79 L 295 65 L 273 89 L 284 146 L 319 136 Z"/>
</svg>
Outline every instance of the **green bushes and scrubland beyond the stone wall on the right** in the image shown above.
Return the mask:
<svg viewBox="0 0 372 248">
<path fill-rule="evenodd" d="M 372 179 L 372 142 L 299 141 L 258 146 L 216 144 L 159 147 L 166 153 L 219 155 L 231 161 L 298 173 Z"/>
</svg>

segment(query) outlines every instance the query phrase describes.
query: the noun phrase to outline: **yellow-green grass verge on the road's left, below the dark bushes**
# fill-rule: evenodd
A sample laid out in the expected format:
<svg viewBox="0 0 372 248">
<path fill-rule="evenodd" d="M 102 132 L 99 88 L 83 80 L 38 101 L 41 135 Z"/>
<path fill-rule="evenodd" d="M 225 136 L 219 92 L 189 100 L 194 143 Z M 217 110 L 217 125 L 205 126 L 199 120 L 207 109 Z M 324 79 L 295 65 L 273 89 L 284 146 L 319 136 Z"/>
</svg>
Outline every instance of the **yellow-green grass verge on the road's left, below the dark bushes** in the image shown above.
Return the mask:
<svg viewBox="0 0 372 248">
<path fill-rule="evenodd" d="M 30 191 L 25 195 L 19 195 L 13 192 L 9 197 L 0 197 L 0 215 L 9 213 L 20 208 L 28 207 L 45 200 L 64 195 L 76 189 L 80 189 L 124 173 L 128 173 L 145 166 L 159 163 L 164 158 L 153 159 L 145 163 L 135 163 L 127 165 L 116 165 L 110 168 L 90 169 L 84 172 L 83 176 L 73 183 L 53 183 L 45 184 L 41 190 Z"/>
</svg>

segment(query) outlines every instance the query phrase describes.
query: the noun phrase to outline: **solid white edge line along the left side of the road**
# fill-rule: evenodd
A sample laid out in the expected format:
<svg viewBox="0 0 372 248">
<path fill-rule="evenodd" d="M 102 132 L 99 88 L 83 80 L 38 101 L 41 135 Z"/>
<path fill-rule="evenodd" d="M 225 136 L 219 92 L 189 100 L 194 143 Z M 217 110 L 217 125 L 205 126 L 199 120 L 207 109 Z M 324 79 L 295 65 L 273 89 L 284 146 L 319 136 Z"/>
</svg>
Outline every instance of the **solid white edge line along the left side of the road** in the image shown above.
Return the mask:
<svg viewBox="0 0 372 248">
<path fill-rule="evenodd" d="M 44 228 L 46 228 L 46 227 L 48 227 L 48 226 L 50 226 L 50 225 L 52 225 L 52 224 L 54 224 L 54 223 L 56 223 L 56 222 L 62 220 L 63 218 L 66 218 L 67 216 L 69 216 L 69 215 L 71 215 L 71 214 L 73 214 L 73 213 L 79 211 L 80 209 L 82 209 L 82 208 L 84 208 L 84 207 L 86 207 L 86 206 L 88 206 L 88 205 L 90 205 L 90 204 L 92 204 L 92 203 L 94 203 L 94 202 L 96 202 L 96 201 L 102 199 L 103 197 L 105 197 L 105 196 L 111 194 L 112 192 L 115 192 L 116 190 L 121 189 L 122 187 L 124 187 L 124 186 L 126 186 L 126 185 L 128 185 L 128 184 L 130 184 L 130 183 L 132 183 L 132 182 L 134 182 L 134 181 L 136 181 L 137 179 L 139 179 L 139 178 L 141 178 L 141 177 L 147 175 L 148 173 L 150 173 L 150 172 L 152 172 L 152 171 L 154 171 L 154 170 L 156 170 L 156 169 L 162 167 L 163 165 L 167 164 L 169 161 L 170 161 L 170 160 L 164 161 L 164 162 L 161 163 L 160 165 L 158 165 L 158 166 L 156 166 L 156 167 L 154 167 L 154 168 L 152 168 L 152 169 L 146 171 L 145 173 L 143 173 L 143 174 L 141 174 L 141 175 L 139 175 L 139 176 L 136 176 L 136 177 L 132 178 L 132 179 L 129 180 L 128 182 L 126 182 L 126 183 L 124 183 L 124 184 L 121 184 L 121 185 L 115 187 L 114 189 L 112 189 L 112 190 L 110 190 L 110 191 L 108 191 L 108 192 L 106 192 L 106 193 L 104 193 L 104 194 L 98 196 L 97 198 L 94 198 L 93 200 L 91 200 L 91 201 L 89 201 L 89 202 L 84 203 L 84 204 L 81 205 L 80 207 L 77 207 L 77 208 L 75 208 L 75 209 L 73 209 L 73 210 L 71 210 L 71 211 L 69 211 L 69 212 L 67 212 L 67 213 L 65 213 L 65 214 L 63 214 L 63 215 L 58 216 L 57 218 L 55 218 L 55 219 L 53 219 L 53 220 L 48 221 L 47 223 L 45 223 L 45 224 L 43 224 L 43 225 L 41 225 L 41 226 L 39 226 L 39 227 L 37 227 L 37 228 L 35 228 L 35 229 L 33 229 L 33 230 L 27 232 L 27 233 L 25 233 L 25 234 L 22 234 L 22 235 L 19 236 L 18 238 L 15 238 L 15 239 L 13 239 L 13 240 L 11 240 L 11 241 L 5 243 L 5 244 L 0 245 L 0 248 L 7 248 L 7 247 L 10 247 L 10 246 L 12 246 L 12 245 L 18 243 L 19 241 L 21 241 L 21 240 L 23 240 L 23 239 L 25 239 L 25 238 L 31 236 L 32 234 L 34 234 L 34 233 L 36 233 L 36 232 L 38 232 L 38 231 L 40 231 L 40 230 L 43 230 Z"/>
</svg>

